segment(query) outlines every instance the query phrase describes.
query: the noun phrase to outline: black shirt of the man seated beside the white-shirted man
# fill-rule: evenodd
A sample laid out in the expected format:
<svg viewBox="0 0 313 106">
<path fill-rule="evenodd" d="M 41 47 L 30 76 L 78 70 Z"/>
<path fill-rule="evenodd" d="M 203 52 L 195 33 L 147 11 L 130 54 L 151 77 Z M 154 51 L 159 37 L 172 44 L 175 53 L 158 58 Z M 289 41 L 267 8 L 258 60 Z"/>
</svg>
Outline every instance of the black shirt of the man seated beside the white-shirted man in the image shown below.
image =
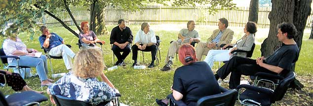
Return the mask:
<svg viewBox="0 0 313 106">
<path fill-rule="evenodd" d="M 114 42 L 125 43 L 126 41 L 132 43 L 133 38 L 134 36 L 129 27 L 126 27 L 123 31 L 120 31 L 119 27 L 117 26 L 112 29 L 110 36 L 110 44 L 113 44 Z"/>
</svg>

